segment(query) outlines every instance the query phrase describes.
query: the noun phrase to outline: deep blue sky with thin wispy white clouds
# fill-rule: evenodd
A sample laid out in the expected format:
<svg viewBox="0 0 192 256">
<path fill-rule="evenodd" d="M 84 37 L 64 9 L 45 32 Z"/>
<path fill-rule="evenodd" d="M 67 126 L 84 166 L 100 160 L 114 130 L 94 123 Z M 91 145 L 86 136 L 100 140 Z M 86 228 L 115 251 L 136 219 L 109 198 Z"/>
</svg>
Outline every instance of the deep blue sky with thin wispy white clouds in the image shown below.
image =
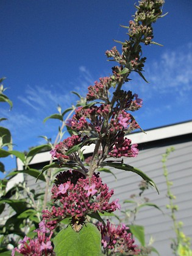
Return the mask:
<svg viewBox="0 0 192 256">
<path fill-rule="evenodd" d="M 11 130 L 15 150 L 43 143 L 40 135 L 54 138 L 59 121 L 43 124 L 43 119 L 57 112 L 57 104 L 65 109 L 76 102 L 70 91 L 85 96 L 88 85 L 111 74 L 114 63 L 107 62 L 105 51 L 120 49 L 113 39 L 128 39 L 119 24 L 128 25 L 134 3 L 1 0 L 0 77 L 7 77 L 13 109 L 1 104 L 0 114 L 9 118 L 2 125 Z M 163 12 L 169 14 L 154 24 L 154 41 L 164 47 L 143 49 L 150 84 L 135 74 L 124 87 L 143 99 L 134 113 L 143 129 L 191 119 L 191 0 L 167 0 Z"/>
</svg>

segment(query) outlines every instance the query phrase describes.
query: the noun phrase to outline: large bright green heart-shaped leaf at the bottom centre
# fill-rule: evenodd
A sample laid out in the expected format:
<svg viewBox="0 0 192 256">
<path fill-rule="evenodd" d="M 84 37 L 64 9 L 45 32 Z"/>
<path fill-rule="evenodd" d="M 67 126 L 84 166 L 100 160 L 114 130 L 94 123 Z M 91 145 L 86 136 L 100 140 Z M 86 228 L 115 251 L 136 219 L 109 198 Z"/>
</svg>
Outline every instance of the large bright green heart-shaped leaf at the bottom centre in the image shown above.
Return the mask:
<svg viewBox="0 0 192 256">
<path fill-rule="evenodd" d="M 90 222 L 79 232 L 68 226 L 55 236 L 54 251 L 57 256 L 100 256 L 101 233 Z"/>
</svg>

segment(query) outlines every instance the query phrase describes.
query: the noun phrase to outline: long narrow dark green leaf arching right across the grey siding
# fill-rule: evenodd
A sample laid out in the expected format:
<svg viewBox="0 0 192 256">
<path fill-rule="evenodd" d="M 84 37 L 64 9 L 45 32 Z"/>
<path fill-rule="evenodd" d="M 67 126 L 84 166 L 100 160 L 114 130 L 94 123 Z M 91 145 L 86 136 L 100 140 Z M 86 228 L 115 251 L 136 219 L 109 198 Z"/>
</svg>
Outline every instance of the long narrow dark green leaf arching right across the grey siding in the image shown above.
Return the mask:
<svg viewBox="0 0 192 256">
<path fill-rule="evenodd" d="M 153 182 L 153 180 L 151 178 L 149 178 L 143 171 L 141 171 L 140 169 L 137 169 L 133 166 L 130 165 L 126 165 L 125 163 L 112 163 L 112 162 L 102 162 L 101 166 L 110 166 L 116 169 L 121 169 L 124 171 L 131 171 L 131 172 L 135 172 L 137 173 L 139 176 L 141 176 L 144 180 L 146 180 L 146 182 L 148 182 L 152 187 L 155 187 L 157 192 L 157 186 L 155 185 L 155 182 Z M 159 194 L 159 192 L 158 192 Z"/>
</svg>

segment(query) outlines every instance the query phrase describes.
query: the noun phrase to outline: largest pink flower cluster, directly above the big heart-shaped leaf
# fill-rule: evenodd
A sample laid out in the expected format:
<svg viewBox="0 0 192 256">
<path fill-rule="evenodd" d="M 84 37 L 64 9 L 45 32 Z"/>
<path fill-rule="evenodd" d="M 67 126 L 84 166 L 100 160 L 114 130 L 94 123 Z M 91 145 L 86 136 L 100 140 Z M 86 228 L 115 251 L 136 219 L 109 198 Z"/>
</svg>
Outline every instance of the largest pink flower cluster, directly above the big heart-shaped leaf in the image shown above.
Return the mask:
<svg viewBox="0 0 192 256">
<path fill-rule="evenodd" d="M 110 201 L 113 190 L 108 191 L 107 184 L 103 184 L 98 174 L 93 174 L 91 179 L 88 177 L 79 177 L 76 182 L 74 173 L 76 171 L 66 171 L 60 173 L 57 178 L 57 184 L 52 188 L 52 199 L 60 202 L 60 207 L 52 207 L 43 211 L 43 219 L 46 226 L 53 230 L 62 219 L 72 217 L 76 219 L 85 219 L 87 215 L 93 212 L 114 212 L 120 208 L 118 200 Z M 63 183 L 66 176 L 71 176 L 71 180 Z M 63 176 L 63 177 L 62 177 Z M 61 179 L 61 183 L 59 182 Z"/>
</svg>

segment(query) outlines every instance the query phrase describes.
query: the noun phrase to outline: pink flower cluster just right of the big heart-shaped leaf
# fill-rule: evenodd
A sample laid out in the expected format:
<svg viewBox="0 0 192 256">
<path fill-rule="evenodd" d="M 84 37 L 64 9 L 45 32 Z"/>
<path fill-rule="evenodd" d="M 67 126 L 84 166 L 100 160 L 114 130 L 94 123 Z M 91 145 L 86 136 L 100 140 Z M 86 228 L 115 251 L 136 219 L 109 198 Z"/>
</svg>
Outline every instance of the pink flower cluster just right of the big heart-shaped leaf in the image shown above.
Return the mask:
<svg viewBox="0 0 192 256">
<path fill-rule="evenodd" d="M 127 233 L 129 227 L 124 224 L 115 227 L 115 225 L 110 224 L 107 220 L 107 225 L 103 225 L 101 222 L 97 225 L 99 231 L 101 232 L 101 244 L 104 249 L 104 253 L 110 252 L 110 254 L 115 254 L 120 252 L 124 255 L 138 255 L 140 252 L 137 249 L 137 245 L 134 244 L 135 240 L 132 239 L 132 234 Z"/>
</svg>

